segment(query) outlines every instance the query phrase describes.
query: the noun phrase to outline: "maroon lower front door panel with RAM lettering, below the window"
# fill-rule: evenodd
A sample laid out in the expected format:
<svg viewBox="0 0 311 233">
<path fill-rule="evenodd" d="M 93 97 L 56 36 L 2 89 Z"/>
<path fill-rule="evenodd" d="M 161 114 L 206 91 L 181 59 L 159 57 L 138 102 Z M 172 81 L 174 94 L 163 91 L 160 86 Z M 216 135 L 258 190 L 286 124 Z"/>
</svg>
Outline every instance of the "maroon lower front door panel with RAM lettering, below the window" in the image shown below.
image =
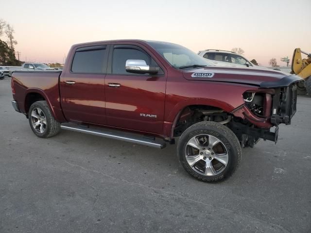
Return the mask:
<svg viewBox="0 0 311 233">
<path fill-rule="evenodd" d="M 120 83 L 120 87 L 109 87 L 108 83 Z M 165 83 L 163 76 L 106 75 L 107 124 L 161 133 L 164 121 Z"/>
</svg>

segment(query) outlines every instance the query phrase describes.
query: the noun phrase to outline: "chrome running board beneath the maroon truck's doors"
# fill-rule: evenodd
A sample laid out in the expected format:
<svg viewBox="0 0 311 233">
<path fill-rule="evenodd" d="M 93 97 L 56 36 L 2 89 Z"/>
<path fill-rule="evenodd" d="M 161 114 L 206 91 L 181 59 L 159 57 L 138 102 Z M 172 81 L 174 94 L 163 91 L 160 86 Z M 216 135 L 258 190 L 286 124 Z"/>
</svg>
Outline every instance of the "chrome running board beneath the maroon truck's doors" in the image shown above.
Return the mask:
<svg viewBox="0 0 311 233">
<path fill-rule="evenodd" d="M 60 126 L 63 130 L 69 130 L 79 133 L 87 133 L 91 135 L 101 136 L 101 137 L 107 137 L 111 139 L 117 139 L 125 142 L 132 142 L 144 146 L 150 146 L 155 147 L 159 149 L 163 149 L 166 147 L 166 143 L 164 141 L 160 141 L 153 139 L 153 137 L 144 137 L 143 135 L 134 134 L 134 133 L 124 133 L 116 130 L 108 131 L 106 129 L 94 129 L 94 128 L 86 128 L 85 126 L 70 124 L 70 123 L 64 123 Z"/>
</svg>

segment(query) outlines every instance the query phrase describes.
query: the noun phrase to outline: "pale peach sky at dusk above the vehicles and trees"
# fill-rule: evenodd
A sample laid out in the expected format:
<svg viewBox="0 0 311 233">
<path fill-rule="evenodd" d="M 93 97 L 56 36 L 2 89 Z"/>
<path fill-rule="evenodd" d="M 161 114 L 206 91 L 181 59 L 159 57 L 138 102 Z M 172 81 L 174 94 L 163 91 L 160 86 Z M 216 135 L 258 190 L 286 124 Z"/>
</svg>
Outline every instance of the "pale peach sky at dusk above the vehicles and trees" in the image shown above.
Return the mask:
<svg viewBox="0 0 311 233">
<path fill-rule="evenodd" d="M 194 52 L 241 47 L 263 66 L 272 57 L 286 66 L 280 58 L 297 47 L 311 52 L 311 0 L 0 2 L 23 61 L 63 63 L 72 44 L 111 39 L 168 41 Z"/>
</svg>

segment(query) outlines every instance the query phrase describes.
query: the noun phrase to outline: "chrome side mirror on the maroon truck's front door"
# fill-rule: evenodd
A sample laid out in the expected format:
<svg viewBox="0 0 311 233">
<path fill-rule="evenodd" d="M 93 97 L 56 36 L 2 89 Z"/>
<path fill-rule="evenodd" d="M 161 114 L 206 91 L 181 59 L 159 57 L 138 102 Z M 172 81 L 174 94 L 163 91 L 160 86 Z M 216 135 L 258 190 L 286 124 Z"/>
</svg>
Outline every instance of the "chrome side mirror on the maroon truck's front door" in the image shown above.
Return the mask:
<svg viewBox="0 0 311 233">
<path fill-rule="evenodd" d="M 127 60 L 125 70 L 135 74 L 156 74 L 159 71 L 159 67 L 150 67 L 144 60 Z"/>
</svg>

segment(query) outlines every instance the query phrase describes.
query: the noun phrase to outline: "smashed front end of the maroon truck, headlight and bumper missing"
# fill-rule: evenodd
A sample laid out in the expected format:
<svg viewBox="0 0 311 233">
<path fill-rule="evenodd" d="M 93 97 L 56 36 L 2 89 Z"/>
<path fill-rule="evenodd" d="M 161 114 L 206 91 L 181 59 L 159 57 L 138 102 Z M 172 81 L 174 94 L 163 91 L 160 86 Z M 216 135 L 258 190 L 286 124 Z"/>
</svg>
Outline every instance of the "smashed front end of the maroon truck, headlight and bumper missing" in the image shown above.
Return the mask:
<svg viewBox="0 0 311 233">
<path fill-rule="evenodd" d="M 278 125 L 291 124 L 296 112 L 297 84 L 302 79 L 286 76 L 277 82 L 263 82 L 258 90 L 243 93 L 244 104 L 231 113 L 240 120 L 230 128 L 240 141 L 256 142 L 259 138 L 277 142 Z M 275 127 L 274 132 L 270 128 Z"/>
</svg>

